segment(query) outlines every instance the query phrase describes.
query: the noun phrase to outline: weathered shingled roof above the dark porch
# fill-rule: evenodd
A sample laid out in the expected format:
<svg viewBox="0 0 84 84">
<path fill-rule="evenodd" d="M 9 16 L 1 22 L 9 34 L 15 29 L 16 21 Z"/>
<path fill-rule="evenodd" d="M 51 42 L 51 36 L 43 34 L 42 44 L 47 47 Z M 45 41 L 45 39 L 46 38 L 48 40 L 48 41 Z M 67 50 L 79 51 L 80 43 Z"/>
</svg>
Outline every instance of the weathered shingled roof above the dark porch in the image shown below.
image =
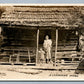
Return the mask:
<svg viewBox="0 0 84 84">
<path fill-rule="evenodd" d="M 82 6 L 7 6 L 0 25 L 78 28 L 84 21 Z"/>
</svg>

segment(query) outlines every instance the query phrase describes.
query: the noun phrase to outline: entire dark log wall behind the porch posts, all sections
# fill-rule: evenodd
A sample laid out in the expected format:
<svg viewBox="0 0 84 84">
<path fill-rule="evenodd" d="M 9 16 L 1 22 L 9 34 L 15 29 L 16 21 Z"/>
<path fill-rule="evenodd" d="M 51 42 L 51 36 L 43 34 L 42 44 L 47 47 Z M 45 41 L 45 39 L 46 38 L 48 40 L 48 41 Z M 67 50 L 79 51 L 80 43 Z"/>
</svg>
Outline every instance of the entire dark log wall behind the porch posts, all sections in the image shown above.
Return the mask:
<svg viewBox="0 0 84 84">
<path fill-rule="evenodd" d="M 4 44 L 2 45 L 4 59 L 9 61 L 9 55 L 20 54 L 20 61 L 35 62 L 36 60 L 36 29 L 17 29 L 3 28 Z M 58 31 L 58 53 L 62 59 L 63 52 L 76 51 L 78 37 L 75 34 L 76 30 L 59 30 Z M 52 60 L 55 59 L 55 41 L 56 32 L 52 30 L 39 30 L 39 48 L 43 47 L 45 36 L 49 35 L 52 39 Z M 22 57 L 24 56 L 24 57 Z M 31 57 L 29 57 L 31 56 Z M 66 57 L 68 55 L 66 54 Z M 16 61 L 16 57 L 13 58 Z M 31 59 L 31 60 L 30 60 Z"/>
</svg>

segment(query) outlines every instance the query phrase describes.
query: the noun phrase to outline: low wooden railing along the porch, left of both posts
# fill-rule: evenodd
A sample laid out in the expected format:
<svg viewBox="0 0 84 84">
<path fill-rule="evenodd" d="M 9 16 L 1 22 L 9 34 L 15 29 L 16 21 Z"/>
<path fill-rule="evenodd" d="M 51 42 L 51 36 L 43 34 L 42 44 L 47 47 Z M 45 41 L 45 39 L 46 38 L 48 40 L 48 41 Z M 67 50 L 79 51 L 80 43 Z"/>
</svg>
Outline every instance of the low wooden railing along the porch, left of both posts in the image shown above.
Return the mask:
<svg viewBox="0 0 84 84">
<path fill-rule="evenodd" d="M 21 48 L 21 49 L 3 49 L 5 53 L 2 53 L 3 60 L 8 59 L 8 62 L 15 61 L 17 63 L 24 60 L 25 62 L 31 63 L 36 60 L 36 48 Z M 32 61 L 33 58 L 33 61 Z"/>
</svg>

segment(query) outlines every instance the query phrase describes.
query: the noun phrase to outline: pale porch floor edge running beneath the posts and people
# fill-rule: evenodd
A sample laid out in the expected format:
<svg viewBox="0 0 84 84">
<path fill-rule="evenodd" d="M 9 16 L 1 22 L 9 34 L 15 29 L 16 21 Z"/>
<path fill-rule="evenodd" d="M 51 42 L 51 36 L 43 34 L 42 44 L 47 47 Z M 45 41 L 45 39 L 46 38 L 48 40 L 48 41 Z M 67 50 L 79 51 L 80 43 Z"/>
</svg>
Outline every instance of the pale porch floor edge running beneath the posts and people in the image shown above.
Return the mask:
<svg viewBox="0 0 84 84">
<path fill-rule="evenodd" d="M 54 64 L 35 64 L 35 63 L 9 63 L 9 62 L 0 62 L 0 65 L 11 65 L 11 66 L 28 66 L 31 69 L 39 69 L 39 70 L 75 70 L 77 69 L 78 64 L 76 65 L 64 65 L 59 64 L 54 66 Z"/>
</svg>

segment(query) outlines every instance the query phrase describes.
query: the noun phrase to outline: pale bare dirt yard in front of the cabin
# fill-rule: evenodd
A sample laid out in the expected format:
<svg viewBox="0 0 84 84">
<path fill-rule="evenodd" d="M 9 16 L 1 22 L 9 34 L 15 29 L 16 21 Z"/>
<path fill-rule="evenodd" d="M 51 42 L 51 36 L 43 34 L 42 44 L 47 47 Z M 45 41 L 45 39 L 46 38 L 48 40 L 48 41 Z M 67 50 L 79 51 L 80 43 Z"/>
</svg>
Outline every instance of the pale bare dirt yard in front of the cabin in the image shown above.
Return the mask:
<svg viewBox="0 0 84 84">
<path fill-rule="evenodd" d="M 84 79 L 84 74 L 75 74 L 74 70 L 40 70 L 34 66 L 0 65 L 1 80 L 66 80 Z"/>
</svg>

